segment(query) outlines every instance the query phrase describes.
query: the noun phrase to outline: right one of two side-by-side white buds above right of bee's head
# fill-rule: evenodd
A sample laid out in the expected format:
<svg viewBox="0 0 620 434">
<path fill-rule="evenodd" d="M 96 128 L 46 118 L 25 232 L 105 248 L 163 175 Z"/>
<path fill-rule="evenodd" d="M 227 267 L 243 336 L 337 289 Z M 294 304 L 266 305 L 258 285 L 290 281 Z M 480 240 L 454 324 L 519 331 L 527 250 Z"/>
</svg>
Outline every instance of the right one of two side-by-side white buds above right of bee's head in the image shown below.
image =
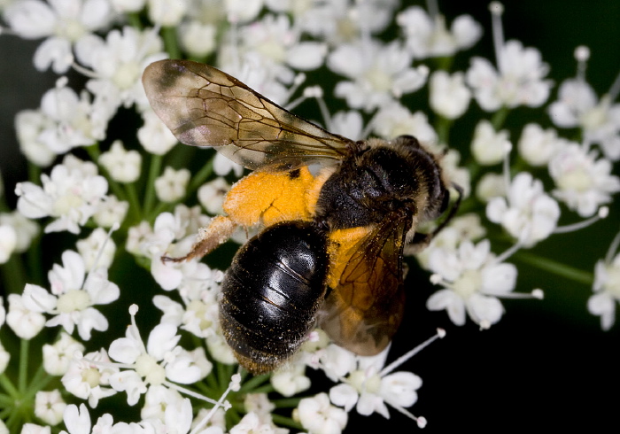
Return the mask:
<svg viewBox="0 0 620 434">
<path fill-rule="evenodd" d="M 517 147 L 519 154 L 531 166 L 545 166 L 568 141 L 558 137 L 553 128 L 543 129 L 539 124 L 527 124 Z"/>
</svg>

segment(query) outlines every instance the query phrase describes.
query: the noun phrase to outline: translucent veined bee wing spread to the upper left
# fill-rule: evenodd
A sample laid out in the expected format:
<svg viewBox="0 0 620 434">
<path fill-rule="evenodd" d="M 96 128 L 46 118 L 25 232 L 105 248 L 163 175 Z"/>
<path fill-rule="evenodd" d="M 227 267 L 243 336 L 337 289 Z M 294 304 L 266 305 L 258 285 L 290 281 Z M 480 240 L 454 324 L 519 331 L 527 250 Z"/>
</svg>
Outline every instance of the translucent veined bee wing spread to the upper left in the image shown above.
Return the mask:
<svg viewBox="0 0 620 434">
<path fill-rule="evenodd" d="M 151 107 L 181 143 L 216 147 L 252 170 L 336 162 L 353 144 L 287 112 L 213 66 L 160 60 L 146 67 L 143 85 Z"/>
</svg>

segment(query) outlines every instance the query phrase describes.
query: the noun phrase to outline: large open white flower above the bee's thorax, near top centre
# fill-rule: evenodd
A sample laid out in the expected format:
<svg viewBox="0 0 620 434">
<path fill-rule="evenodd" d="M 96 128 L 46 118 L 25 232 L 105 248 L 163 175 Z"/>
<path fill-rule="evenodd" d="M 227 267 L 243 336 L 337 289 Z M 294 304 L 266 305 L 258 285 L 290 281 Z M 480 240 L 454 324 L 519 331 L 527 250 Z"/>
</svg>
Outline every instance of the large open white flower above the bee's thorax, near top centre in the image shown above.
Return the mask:
<svg viewBox="0 0 620 434">
<path fill-rule="evenodd" d="M 344 97 L 353 109 L 369 112 L 423 86 L 428 68 L 414 68 L 411 63 L 411 55 L 399 43 L 368 40 L 338 46 L 327 65 L 349 79 L 337 83 L 336 96 Z"/>
</svg>

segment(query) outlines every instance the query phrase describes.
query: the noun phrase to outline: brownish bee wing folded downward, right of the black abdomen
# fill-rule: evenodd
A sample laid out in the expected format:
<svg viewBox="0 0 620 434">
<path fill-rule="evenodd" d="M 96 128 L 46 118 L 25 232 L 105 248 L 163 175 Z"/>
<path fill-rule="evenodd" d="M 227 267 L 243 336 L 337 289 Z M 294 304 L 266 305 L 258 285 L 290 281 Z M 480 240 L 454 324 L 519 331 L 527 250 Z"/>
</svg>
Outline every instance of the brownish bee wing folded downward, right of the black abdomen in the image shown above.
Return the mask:
<svg viewBox="0 0 620 434">
<path fill-rule="evenodd" d="M 337 345 L 375 355 L 390 343 L 405 307 L 402 252 L 410 226 L 407 213 L 392 213 L 350 250 L 320 318 L 320 327 Z"/>
</svg>

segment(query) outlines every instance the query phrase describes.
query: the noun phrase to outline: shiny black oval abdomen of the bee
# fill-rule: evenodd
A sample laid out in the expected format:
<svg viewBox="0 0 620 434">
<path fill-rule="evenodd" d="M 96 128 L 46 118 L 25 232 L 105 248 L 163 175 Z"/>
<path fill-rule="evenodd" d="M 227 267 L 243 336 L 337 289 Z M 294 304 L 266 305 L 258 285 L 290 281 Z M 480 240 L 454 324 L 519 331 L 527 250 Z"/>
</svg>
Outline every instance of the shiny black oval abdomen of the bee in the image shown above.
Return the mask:
<svg viewBox="0 0 620 434">
<path fill-rule="evenodd" d="M 267 228 L 236 253 L 220 320 L 245 368 L 267 372 L 297 351 L 325 296 L 328 268 L 327 237 L 311 222 Z"/>
</svg>

